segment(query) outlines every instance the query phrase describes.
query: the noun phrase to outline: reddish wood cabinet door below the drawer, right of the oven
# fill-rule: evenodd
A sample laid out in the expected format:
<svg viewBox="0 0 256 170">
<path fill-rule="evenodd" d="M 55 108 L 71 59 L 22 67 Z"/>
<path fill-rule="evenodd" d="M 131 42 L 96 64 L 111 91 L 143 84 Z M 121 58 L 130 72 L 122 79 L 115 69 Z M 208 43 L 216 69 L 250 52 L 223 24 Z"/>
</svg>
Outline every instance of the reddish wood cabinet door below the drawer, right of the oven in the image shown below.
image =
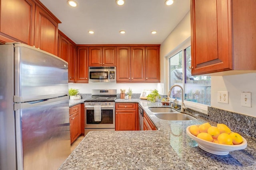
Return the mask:
<svg viewBox="0 0 256 170">
<path fill-rule="evenodd" d="M 136 110 L 116 110 L 116 131 L 136 130 Z"/>
</svg>

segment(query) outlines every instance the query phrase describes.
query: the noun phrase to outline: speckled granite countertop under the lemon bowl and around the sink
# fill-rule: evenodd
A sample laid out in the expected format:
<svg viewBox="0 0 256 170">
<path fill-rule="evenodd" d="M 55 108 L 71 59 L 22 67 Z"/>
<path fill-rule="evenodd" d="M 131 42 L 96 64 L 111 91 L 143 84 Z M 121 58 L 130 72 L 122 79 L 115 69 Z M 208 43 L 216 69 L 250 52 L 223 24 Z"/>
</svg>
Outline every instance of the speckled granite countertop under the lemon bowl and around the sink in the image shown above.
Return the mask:
<svg viewBox="0 0 256 170">
<path fill-rule="evenodd" d="M 205 152 L 186 134 L 186 127 L 207 120 L 190 121 L 158 119 L 148 107 L 160 102 L 117 99 L 116 102 L 138 102 L 158 128 L 157 131 L 91 131 L 70 154 L 60 170 L 82 169 L 256 169 L 256 139 L 242 135 L 248 142 L 244 150 L 226 156 Z M 214 124 L 214 122 L 210 122 Z"/>
</svg>

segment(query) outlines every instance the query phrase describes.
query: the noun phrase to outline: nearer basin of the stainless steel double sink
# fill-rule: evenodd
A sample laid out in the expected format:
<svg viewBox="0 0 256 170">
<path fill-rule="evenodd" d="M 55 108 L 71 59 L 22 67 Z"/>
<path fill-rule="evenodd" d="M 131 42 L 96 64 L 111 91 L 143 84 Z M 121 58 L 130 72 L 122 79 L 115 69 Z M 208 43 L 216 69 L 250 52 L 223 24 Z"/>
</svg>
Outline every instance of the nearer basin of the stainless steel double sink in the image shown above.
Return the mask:
<svg viewBox="0 0 256 170">
<path fill-rule="evenodd" d="M 156 117 L 163 120 L 195 120 L 196 118 L 184 113 L 154 113 Z"/>
</svg>

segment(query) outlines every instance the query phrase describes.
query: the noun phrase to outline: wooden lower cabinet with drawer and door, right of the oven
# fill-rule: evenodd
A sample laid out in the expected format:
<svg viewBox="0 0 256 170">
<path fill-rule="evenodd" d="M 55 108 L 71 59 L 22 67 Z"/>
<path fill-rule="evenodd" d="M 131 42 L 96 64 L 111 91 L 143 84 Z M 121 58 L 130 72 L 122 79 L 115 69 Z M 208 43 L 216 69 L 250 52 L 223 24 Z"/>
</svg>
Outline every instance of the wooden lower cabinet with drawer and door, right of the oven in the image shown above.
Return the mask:
<svg viewBox="0 0 256 170">
<path fill-rule="evenodd" d="M 135 103 L 116 104 L 116 131 L 136 131 L 137 107 Z"/>
</svg>

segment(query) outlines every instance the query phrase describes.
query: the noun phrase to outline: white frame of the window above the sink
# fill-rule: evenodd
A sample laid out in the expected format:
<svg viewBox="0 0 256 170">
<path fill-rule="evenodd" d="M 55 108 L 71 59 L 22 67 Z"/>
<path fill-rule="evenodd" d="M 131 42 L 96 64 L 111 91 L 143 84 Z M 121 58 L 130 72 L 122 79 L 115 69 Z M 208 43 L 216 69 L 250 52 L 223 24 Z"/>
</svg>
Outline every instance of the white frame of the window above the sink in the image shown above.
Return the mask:
<svg viewBox="0 0 256 170">
<path fill-rule="evenodd" d="M 180 45 L 178 45 L 174 50 L 172 50 L 168 56 L 168 88 L 170 89 L 170 58 L 173 57 L 174 55 L 176 55 L 177 53 L 179 53 L 180 51 L 182 51 L 182 72 L 185 72 L 185 57 L 184 57 L 184 52 L 185 49 L 188 48 L 189 46 L 191 46 L 191 40 L 190 37 L 188 39 L 186 39 L 184 42 L 182 42 Z M 182 88 L 184 89 L 185 87 L 185 74 L 182 74 Z M 185 93 L 183 93 L 183 99 L 184 99 L 184 95 Z M 170 101 L 173 102 L 174 99 L 170 98 Z M 208 114 L 208 105 L 205 104 L 200 104 L 200 103 L 196 103 L 196 102 L 190 102 L 187 100 L 184 100 L 184 104 L 186 107 L 194 109 L 196 111 L 199 111 L 201 113 L 205 113 Z M 179 105 L 181 105 L 181 102 L 179 101 Z"/>
</svg>

